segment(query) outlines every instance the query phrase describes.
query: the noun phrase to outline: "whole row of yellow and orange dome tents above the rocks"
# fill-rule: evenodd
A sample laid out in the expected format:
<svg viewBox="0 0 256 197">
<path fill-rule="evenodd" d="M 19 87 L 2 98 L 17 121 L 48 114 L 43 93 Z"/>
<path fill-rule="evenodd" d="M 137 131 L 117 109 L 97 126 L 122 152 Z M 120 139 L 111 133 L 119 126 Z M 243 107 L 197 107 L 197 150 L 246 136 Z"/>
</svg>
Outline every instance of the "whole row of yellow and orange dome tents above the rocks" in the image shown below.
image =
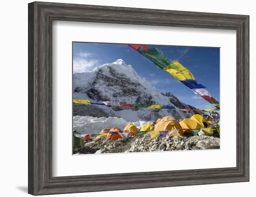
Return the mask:
<svg viewBox="0 0 256 197">
<path fill-rule="evenodd" d="M 220 132 L 219 126 L 212 124 L 210 120 L 206 120 L 200 114 L 195 114 L 190 118 L 186 118 L 178 122 L 171 116 L 159 118 L 155 121 L 155 124 L 145 124 L 138 129 L 134 124 L 128 123 L 123 129 L 119 128 L 105 128 L 100 131 L 99 134 L 86 134 L 81 135 L 77 131 L 73 132 L 73 147 L 81 146 L 83 141 L 88 141 L 90 138 L 94 138 L 96 141 L 101 138 L 108 140 L 122 139 L 127 135 L 142 136 L 145 133 L 149 133 L 150 138 L 163 138 L 169 136 L 183 136 L 183 135 L 197 135 L 200 131 L 203 135 L 213 134 L 214 131 Z"/>
</svg>

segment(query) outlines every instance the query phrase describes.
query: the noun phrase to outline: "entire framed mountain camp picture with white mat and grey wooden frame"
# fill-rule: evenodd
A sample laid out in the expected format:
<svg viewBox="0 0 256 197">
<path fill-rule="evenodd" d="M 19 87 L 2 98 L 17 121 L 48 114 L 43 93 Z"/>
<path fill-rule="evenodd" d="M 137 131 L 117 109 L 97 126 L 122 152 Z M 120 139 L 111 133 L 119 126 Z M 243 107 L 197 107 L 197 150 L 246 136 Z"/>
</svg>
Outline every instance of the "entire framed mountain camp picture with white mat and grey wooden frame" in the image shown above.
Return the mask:
<svg viewBox="0 0 256 197">
<path fill-rule="evenodd" d="M 28 4 L 28 193 L 249 181 L 249 16 Z"/>
</svg>

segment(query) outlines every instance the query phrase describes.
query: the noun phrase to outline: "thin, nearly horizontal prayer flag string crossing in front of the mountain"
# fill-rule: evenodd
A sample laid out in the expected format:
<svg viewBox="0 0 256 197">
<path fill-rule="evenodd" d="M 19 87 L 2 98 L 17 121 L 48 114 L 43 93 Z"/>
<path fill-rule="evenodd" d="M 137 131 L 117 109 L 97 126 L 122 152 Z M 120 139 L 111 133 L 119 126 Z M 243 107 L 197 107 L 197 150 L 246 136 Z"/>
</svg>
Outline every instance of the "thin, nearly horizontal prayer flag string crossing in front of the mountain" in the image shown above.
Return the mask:
<svg viewBox="0 0 256 197">
<path fill-rule="evenodd" d="M 74 104 L 85 104 L 85 105 L 105 105 L 105 106 L 120 106 L 120 107 L 134 107 L 134 108 L 139 108 L 139 107 L 144 107 L 144 108 L 156 108 L 156 109 L 175 109 L 175 110 L 180 110 L 180 111 L 194 111 L 194 112 L 211 112 L 211 111 L 218 111 L 219 109 L 217 108 L 209 108 L 209 109 L 180 109 L 171 105 L 147 105 L 147 104 L 120 104 L 116 103 L 113 101 L 104 101 L 104 102 L 98 102 L 98 103 L 93 103 L 90 102 L 88 99 L 73 99 Z"/>
</svg>

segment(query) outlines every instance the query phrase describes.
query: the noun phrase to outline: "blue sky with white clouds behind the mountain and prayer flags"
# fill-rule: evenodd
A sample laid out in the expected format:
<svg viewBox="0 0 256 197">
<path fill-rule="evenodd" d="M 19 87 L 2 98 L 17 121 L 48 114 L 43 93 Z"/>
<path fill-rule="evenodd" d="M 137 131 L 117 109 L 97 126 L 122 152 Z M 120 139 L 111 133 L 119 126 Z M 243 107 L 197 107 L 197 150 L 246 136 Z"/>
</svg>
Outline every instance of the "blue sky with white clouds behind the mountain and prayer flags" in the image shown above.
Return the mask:
<svg viewBox="0 0 256 197">
<path fill-rule="evenodd" d="M 150 45 L 148 45 L 150 46 Z M 194 75 L 198 84 L 206 86 L 212 97 L 220 100 L 220 49 L 216 47 L 158 46 L 170 60 L 179 60 Z M 135 71 L 162 92 L 172 92 L 180 101 L 198 109 L 212 108 L 168 72 L 126 44 L 73 43 L 73 72 L 88 72 L 105 63 L 123 59 Z"/>
</svg>

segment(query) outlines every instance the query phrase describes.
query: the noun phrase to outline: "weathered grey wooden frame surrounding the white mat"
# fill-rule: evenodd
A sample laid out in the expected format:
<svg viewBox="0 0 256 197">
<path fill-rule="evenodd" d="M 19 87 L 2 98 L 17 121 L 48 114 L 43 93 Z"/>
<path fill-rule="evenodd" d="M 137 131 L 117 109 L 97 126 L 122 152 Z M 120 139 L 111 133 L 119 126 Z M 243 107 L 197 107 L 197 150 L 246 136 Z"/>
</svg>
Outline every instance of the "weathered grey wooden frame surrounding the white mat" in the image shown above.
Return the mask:
<svg viewBox="0 0 256 197">
<path fill-rule="evenodd" d="M 53 20 L 236 30 L 236 167 L 52 177 Z M 249 181 L 249 16 L 47 2 L 28 4 L 29 194 L 46 195 L 246 181 Z"/>
</svg>

